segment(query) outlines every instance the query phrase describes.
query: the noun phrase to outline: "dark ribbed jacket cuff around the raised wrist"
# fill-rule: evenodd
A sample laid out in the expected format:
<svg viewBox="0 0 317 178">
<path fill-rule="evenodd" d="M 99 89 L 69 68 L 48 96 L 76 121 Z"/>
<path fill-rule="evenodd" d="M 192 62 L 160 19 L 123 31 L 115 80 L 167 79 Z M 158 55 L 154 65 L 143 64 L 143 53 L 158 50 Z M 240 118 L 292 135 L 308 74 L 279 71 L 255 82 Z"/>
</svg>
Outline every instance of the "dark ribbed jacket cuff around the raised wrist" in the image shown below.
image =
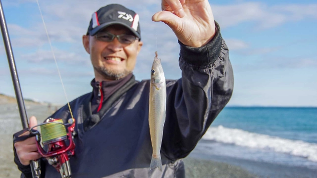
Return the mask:
<svg viewBox="0 0 317 178">
<path fill-rule="evenodd" d="M 221 51 L 222 37 L 219 24 L 216 21 L 214 21 L 214 23 L 216 34 L 208 44 L 201 47 L 190 47 L 178 41 L 180 45 L 180 56 L 184 61 L 195 66 L 208 66 L 217 60 Z"/>
</svg>

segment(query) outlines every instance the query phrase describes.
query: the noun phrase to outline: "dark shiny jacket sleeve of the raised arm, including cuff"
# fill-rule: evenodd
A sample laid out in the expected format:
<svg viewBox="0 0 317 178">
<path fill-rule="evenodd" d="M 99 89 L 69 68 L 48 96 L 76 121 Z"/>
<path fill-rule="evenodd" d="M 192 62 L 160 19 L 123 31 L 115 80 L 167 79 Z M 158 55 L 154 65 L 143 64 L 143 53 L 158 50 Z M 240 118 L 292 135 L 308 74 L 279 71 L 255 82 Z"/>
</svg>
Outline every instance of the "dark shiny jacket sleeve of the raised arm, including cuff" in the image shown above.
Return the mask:
<svg viewBox="0 0 317 178">
<path fill-rule="evenodd" d="M 161 152 L 170 160 L 186 157 L 228 103 L 233 71 L 228 48 L 216 35 L 202 47 L 180 44 L 182 78 L 166 82 L 166 119 Z"/>
</svg>

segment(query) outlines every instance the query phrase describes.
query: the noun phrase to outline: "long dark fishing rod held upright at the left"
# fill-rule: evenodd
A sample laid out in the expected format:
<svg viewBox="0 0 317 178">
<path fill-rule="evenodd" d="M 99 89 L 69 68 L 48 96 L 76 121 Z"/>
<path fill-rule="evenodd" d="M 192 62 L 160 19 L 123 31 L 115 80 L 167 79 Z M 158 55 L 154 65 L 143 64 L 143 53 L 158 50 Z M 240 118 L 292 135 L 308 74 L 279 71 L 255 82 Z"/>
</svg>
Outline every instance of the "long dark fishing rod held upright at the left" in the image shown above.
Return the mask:
<svg viewBox="0 0 317 178">
<path fill-rule="evenodd" d="M 2 2 L 0 0 L 0 27 L 3 38 L 3 43 L 5 47 L 6 56 L 8 58 L 8 63 L 10 67 L 13 87 L 15 91 L 16 101 L 19 108 L 20 118 L 23 129 L 29 128 L 29 122 L 26 115 L 26 109 L 24 105 L 24 99 L 22 96 L 21 86 L 19 82 L 18 72 L 15 66 L 13 51 L 11 47 L 11 42 L 9 38 L 9 33 L 6 26 L 6 21 L 3 13 Z M 30 161 L 31 171 L 33 178 L 41 177 L 41 168 L 38 161 Z"/>
</svg>

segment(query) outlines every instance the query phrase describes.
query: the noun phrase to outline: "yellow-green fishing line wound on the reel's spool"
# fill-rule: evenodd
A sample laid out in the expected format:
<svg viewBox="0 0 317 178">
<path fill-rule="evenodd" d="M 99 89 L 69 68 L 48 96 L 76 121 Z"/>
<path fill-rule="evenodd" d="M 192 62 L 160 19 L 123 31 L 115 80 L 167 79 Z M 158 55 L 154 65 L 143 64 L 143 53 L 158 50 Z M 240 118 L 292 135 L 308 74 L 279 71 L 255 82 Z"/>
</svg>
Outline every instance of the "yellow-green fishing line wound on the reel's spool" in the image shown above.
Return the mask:
<svg viewBox="0 0 317 178">
<path fill-rule="evenodd" d="M 59 120 L 55 120 L 54 122 L 63 123 L 63 120 L 59 119 Z M 43 144 L 55 138 L 67 136 L 65 126 L 62 124 L 47 123 L 40 127 L 41 127 L 41 137 L 42 137 Z"/>
</svg>

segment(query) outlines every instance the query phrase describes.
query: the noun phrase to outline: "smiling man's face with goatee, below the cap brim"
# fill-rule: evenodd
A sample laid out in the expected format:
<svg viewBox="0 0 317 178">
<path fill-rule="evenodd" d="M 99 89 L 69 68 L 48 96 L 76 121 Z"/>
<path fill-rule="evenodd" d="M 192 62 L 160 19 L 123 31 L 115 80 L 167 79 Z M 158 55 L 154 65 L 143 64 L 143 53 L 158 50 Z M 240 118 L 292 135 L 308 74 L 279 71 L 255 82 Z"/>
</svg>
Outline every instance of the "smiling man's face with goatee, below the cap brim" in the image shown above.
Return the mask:
<svg viewBox="0 0 317 178">
<path fill-rule="evenodd" d="M 102 32 L 113 35 L 133 35 L 122 25 L 111 25 Z M 132 73 L 137 55 L 143 45 L 136 39 L 132 44 L 122 44 L 117 38 L 112 42 L 102 42 L 96 36 L 83 36 L 83 44 L 90 54 L 94 67 L 96 81 L 110 81 L 121 79 Z"/>
</svg>

